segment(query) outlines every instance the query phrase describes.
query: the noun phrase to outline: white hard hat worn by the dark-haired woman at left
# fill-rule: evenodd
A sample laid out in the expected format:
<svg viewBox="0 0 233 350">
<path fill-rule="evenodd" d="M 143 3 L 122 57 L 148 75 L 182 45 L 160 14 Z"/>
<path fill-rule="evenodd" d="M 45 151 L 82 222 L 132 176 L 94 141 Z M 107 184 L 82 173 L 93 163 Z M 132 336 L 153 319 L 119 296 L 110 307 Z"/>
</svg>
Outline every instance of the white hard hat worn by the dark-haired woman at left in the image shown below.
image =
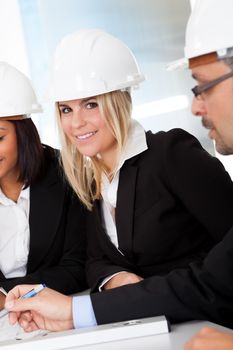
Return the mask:
<svg viewBox="0 0 233 350">
<path fill-rule="evenodd" d="M 0 62 L 0 118 L 42 112 L 30 80 L 18 69 Z"/>
</svg>

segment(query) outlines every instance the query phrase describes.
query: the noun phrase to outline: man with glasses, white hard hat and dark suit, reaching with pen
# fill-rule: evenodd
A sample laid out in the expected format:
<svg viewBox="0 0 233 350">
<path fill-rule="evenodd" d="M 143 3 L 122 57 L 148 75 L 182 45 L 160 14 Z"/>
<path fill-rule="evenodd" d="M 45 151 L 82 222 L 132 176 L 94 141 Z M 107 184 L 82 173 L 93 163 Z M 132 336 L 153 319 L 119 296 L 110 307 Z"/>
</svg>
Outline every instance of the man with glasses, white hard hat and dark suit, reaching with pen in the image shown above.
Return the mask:
<svg viewBox="0 0 233 350">
<path fill-rule="evenodd" d="M 210 130 L 209 136 L 215 139 L 217 149 L 224 154 L 233 153 L 233 73 L 228 65 L 233 59 L 231 50 L 222 50 L 220 53 L 224 56 L 221 57 L 215 50 L 233 46 L 232 10 L 232 0 L 222 0 L 221 6 L 218 0 L 197 1 L 191 15 L 195 21 L 190 20 L 186 36 L 186 59 L 198 82 L 194 89 L 193 113 L 203 116 L 203 124 Z M 211 17 L 212 12 L 213 17 L 218 15 L 217 19 Z M 213 23 L 208 27 L 209 19 L 214 21 L 215 27 L 220 24 L 218 28 Z M 192 23 L 196 23 L 195 35 L 191 35 Z M 200 29 L 200 37 L 196 36 L 197 29 Z M 214 30 L 219 35 L 215 35 Z M 229 41 L 225 42 L 228 37 Z M 205 39 L 209 45 L 207 50 L 205 47 L 201 50 L 199 39 Z M 211 46 L 211 39 L 216 39 L 216 45 Z M 233 228 L 202 263 L 192 263 L 189 268 L 174 270 L 167 276 L 154 276 L 73 299 L 45 288 L 36 298 L 15 300 L 32 288 L 19 286 L 8 294 L 6 308 L 10 311 L 31 310 L 21 316 L 15 312 L 10 314 L 10 321 L 19 320 L 27 331 L 38 327 L 64 330 L 162 314 L 171 322 L 203 319 L 233 327 L 232 276 Z"/>
</svg>

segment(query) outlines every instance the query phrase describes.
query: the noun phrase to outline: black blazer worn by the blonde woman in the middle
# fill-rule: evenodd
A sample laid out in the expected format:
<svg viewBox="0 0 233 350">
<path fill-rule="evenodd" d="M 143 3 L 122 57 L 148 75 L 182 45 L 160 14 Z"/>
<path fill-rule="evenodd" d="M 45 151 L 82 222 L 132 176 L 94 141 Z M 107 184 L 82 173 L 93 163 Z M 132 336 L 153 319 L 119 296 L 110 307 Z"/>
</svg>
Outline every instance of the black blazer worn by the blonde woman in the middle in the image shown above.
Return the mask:
<svg viewBox="0 0 233 350">
<path fill-rule="evenodd" d="M 233 184 L 222 164 L 183 130 L 146 137 L 148 150 L 120 170 L 116 226 L 124 255 L 101 224 L 99 202 L 89 214 L 92 291 L 118 271 L 149 278 L 200 261 L 232 226 Z"/>
</svg>

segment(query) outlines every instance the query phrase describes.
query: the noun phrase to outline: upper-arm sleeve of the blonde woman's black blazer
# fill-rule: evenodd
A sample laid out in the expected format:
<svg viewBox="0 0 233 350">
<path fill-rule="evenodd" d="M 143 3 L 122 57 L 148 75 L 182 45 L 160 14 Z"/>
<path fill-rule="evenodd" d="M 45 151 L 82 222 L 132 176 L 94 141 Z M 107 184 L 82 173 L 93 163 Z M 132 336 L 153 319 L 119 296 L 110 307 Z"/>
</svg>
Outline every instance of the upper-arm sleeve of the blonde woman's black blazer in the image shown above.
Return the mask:
<svg viewBox="0 0 233 350">
<path fill-rule="evenodd" d="M 173 129 L 161 140 L 168 188 L 207 229 L 214 242 L 219 242 L 233 224 L 233 183 L 229 174 L 186 131 Z"/>
</svg>

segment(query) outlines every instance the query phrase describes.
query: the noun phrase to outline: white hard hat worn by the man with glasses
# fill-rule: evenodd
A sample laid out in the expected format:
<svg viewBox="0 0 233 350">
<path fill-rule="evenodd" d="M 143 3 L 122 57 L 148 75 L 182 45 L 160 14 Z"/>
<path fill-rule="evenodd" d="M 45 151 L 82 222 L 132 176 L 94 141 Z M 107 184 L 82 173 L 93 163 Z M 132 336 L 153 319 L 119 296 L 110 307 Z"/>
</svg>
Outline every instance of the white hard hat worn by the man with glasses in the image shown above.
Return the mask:
<svg viewBox="0 0 233 350">
<path fill-rule="evenodd" d="M 185 37 L 185 57 L 168 69 L 188 64 L 189 59 L 216 53 L 217 59 L 233 56 L 233 0 L 196 0 Z"/>
</svg>

